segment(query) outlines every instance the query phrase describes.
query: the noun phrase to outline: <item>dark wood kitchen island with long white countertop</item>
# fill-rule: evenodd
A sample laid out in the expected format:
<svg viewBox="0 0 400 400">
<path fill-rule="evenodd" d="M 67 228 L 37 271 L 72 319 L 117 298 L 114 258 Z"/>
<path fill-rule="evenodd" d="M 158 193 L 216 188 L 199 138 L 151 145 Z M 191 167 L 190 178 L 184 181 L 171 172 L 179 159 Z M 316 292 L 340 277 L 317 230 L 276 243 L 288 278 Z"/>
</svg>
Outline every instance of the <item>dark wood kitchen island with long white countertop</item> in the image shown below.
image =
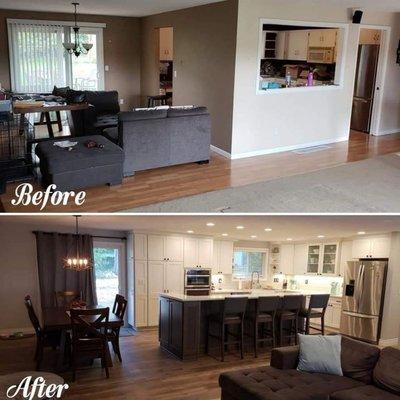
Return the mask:
<svg viewBox="0 0 400 400">
<path fill-rule="evenodd" d="M 197 359 L 205 351 L 207 320 L 219 312 L 223 301 L 230 297 L 247 297 L 248 312 L 255 310 L 259 297 L 311 294 L 296 291 L 253 290 L 249 292 L 218 293 L 209 296 L 160 294 L 159 341 L 162 349 L 181 360 Z"/>
</svg>

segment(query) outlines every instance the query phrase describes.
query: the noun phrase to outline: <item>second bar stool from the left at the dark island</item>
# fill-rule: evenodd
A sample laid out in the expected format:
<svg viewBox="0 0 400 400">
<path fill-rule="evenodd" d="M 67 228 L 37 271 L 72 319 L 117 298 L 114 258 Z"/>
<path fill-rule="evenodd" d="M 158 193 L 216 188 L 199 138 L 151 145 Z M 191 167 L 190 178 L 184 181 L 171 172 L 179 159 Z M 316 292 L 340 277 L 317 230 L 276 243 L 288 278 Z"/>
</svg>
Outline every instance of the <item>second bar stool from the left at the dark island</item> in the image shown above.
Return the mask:
<svg viewBox="0 0 400 400">
<path fill-rule="evenodd" d="M 249 316 L 254 334 L 254 356 L 258 357 L 258 345 L 272 342 L 276 347 L 275 317 L 280 304 L 280 297 L 259 297 L 255 313 Z M 270 329 L 268 329 L 268 325 Z M 261 336 L 260 336 L 261 327 Z"/>
</svg>

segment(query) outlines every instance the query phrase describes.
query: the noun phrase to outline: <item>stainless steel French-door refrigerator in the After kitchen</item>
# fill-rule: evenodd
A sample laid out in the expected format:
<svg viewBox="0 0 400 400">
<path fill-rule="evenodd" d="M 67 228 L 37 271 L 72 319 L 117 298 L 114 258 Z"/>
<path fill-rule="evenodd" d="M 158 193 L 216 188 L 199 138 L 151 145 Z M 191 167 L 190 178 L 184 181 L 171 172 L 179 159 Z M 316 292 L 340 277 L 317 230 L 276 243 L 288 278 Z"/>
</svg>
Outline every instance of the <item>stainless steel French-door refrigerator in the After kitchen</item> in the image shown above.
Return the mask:
<svg viewBox="0 0 400 400">
<path fill-rule="evenodd" d="M 388 260 L 349 261 L 345 272 L 340 332 L 379 343 Z"/>
</svg>

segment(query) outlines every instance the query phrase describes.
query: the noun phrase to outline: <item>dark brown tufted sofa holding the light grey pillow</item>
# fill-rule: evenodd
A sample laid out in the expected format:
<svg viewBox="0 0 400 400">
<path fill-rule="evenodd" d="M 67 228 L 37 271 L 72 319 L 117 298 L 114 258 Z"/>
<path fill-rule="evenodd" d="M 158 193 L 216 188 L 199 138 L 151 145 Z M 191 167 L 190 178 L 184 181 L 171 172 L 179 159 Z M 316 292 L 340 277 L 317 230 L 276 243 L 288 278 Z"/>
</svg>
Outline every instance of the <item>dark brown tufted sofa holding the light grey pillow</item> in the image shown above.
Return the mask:
<svg viewBox="0 0 400 400">
<path fill-rule="evenodd" d="M 298 357 L 278 348 L 269 367 L 222 374 L 222 400 L 400 400 L 399 348 L 343 337 L 343 377 L 298 371 Z"/>
</svg>

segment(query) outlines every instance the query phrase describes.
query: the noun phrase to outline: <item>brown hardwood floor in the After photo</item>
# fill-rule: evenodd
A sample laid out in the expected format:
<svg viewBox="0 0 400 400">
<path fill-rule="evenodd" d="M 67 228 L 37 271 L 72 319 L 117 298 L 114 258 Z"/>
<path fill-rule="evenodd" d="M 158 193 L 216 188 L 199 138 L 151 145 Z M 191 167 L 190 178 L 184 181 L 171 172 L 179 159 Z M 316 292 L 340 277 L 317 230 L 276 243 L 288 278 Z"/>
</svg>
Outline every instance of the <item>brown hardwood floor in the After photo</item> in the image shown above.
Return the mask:
<svg viewBox="0 0 400 400">
<path fill-rule="evenodd" d="M 216 400 L 220 398 L 218 377 L 222 372 L 269 363 L 268 352 L 258 359 L 248 353 L 240 360 L 232 353 L 224 363 L 209 356 L 183 363 L 160 350 L 157 335 L 156 331 L 144 331 L 121 338 L 123 362 L 119 363 L 112 353 L 114 367 L 110 369 L 110 379 L 105 379 L 96 361 L 94 366 L 77 372 L 76 382 L 68 382 L 70 389 L 63 398 Z M 34 345 L 34 338 L 0 340 L 0 374 L 34 369 Z M 64 378 L 69 381 L 71 374 L 67 373 Z"/>
</svg>

